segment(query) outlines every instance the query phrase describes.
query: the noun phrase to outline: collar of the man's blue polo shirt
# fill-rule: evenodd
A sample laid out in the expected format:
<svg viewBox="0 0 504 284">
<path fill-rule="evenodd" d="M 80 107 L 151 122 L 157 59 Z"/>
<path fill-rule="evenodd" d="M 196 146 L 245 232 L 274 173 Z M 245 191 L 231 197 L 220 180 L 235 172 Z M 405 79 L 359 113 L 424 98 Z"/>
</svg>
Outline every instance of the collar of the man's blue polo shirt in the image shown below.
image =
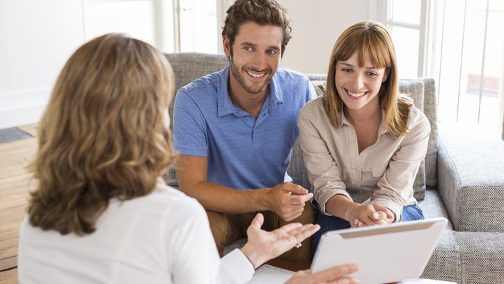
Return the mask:
<svg viewBox="0 0 504 284">
<path fill-rule="evenodd" d="M 217 117 L 227 116 L 228 114 L 235 113 L 238 109 L 229 96 L 228 82 L 229 82 L 229 65 L 226 66 L 219 74 L 217 79 Z M 269 93 L 267 100 L 269 100 L 269 111 L 283 102 L 282 88 L 278 82 L 276 74 L 269 82 Z"/>
</svg>

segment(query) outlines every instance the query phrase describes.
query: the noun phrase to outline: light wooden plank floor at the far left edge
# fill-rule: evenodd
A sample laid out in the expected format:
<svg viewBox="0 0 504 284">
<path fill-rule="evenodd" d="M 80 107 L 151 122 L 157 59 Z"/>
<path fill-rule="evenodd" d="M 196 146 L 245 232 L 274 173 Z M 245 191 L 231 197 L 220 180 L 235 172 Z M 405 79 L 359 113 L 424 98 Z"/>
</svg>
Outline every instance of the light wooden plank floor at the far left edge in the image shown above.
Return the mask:
<svg viewBox="0 0 504 284">
<path fill-rule="evenodd" d="M 36 136 L 33 125 L 18 127 Z M 17 283 L 17 242 L 29 191 L 36 181 L 26 171 L 37 148 L 29 138 L 0 144 L 0 283 Z"/>
</svg>

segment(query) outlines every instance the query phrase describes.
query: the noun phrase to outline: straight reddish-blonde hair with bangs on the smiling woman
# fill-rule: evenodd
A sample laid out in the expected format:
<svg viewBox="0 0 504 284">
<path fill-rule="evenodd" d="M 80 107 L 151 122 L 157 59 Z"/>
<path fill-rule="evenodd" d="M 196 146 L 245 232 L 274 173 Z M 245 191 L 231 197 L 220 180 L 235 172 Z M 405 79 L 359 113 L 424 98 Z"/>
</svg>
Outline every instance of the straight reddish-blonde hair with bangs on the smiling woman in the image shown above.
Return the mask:
<svg viewBox="0 0 504 284">
<path fill-rule="evenodd" d="M 390 34 L 383 24 L 372 21 L 350 26 L 334 44 L 327 83 L 323 87 L 324 106 L 331 124 L 338 128 L 338 111 L 342 111 L 344 106 L 336 90 L 336 63 L 348 60 L 354 52 L 358 54 L 359 67 L 363 67 L 369 55 L 374 68 L 388 69 L 388 78 L 379 90 L 379 103 L 385 111 L 385 126 L 395 137 L 407 134 L 407 120 L 413 100 L 398 92 L 397 62 Z"/>
</svg>

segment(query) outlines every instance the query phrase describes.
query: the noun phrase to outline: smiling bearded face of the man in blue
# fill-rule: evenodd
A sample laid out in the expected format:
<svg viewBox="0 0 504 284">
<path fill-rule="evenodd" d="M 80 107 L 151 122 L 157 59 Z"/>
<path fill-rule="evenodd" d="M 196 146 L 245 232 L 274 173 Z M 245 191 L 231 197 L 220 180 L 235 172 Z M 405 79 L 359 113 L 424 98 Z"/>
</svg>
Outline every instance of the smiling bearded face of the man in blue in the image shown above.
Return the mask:
<svg viewBox="0 0 504 284">
<path fill-rule="evenodd" d="M 224 52 L 230 58 L 230 90 L 233 95 L 262 95 L 281 61 L 283 33 L 279 26 L 246 22 L 239 28 L 233 47 L 224 38 Z M 233 50 L 231 50 L 231 48 Z"/>
</svg>

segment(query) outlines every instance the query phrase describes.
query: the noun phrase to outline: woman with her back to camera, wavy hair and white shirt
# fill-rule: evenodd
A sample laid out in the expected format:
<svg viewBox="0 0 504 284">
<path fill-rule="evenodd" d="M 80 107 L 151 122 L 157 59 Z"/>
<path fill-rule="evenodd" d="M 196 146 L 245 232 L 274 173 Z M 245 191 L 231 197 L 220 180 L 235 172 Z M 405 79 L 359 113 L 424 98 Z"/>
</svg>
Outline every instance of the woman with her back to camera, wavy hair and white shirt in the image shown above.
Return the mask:
<svg viewBox="0 0 504 284">
<path fill-rule="evenodd" d="M 261 230 L 219 260 L 203 207 L 161 180 L 175 159 L 163 54 L 108 34 L 87 42 L 59 75 L 38 125 L 39 148 L 19 237 L 19 283 L 244 283 L 263 262 L 313 235 L 299 223 Z M 354 265 L 317 278 L 354 283 Z"/>
</svg>

